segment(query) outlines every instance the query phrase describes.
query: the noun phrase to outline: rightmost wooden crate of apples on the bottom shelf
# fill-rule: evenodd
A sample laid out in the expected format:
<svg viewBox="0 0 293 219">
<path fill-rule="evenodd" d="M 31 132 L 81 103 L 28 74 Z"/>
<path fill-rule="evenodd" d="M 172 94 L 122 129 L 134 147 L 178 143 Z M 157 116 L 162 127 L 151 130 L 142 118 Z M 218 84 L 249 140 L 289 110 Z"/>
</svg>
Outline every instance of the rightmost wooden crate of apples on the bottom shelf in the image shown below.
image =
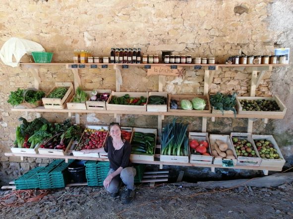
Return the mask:
<svg viewBox="0 0 293 219">
<path fill-rule="evenodd" d="M 282 168 L 284 166 L 286 161 L 285 161 L 285 159 L 281 153 L 281 150 L 278 147 L 278 144 L 277 144 L 276 140 L 274 139 L 273 135 L 252 134 L 251 137 L 253 140 L 267 139 L 267 140 L 271 141 L 272 144 L 274 145 L 274 148 L 277 149 L 277 153 L 282 158 L 282 160 L 281 159 L 275 160 L 275 159 L 261 158 L 261 163 L 260 163 L 261 167 L 280 167 L 280 168 Z"/>
</svg>

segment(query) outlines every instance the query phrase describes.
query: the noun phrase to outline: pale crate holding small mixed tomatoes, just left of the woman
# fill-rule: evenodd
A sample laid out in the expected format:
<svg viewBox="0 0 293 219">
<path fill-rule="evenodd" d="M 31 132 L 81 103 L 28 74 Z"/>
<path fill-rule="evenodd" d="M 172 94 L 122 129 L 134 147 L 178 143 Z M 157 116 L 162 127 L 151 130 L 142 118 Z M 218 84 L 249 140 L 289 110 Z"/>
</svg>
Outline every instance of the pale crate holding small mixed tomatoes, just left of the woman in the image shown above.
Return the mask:
<svg viewBox="0 0 293 219">
<path fill-rule="evenodd" d="M 92 130 L 93 131 L 99 131 L 99 130 L 104 130 L 104 131 L 107 131 L 107 134 L 106 134 L 106 137 L 105 139 L 103 140 L 102 142 L 102 147 L 105 146 L 105 143 L 106 143 L 106 139 L 107 139 L 107 136 L 109 135 L 109 127 L 108 126 L 93 126 L 93 125 L 87 125 L 85 130 L 83 131 L 82 135 L 81 135 L 81 138 L 79 139 L 76 147 L 74 148 L 74 150 L 72 151 L 73 153 L 73 156 L 79 156 L 79 157 L 100 157 L 99 153 L 97 152 L 92 152 L 92 153 L 88 153 L 88 154 L 84 154 L 83 152 L 77 150 L 79 148 L 79 144 L 81 143 L 82 139 L 85 139 L 87 134 L 85 133 L 87 130 Z M 103 133 L 102 133 L 103 134 Z M 90 136 L 90 135 L 89 135 Z M 104 135 L 103 135 L 104 136 Z M 100 137 L 99 137 L 100 138 Z M 98 138 L 97 138 L 98 139 Z M 87 139 L 86 139 L 87 140 Z M 100 140 L 100 139 L 99 139 Z M 89 142 L 89 141 L 88 141 Z M 99 141 L 97 141 L 98 143 Z M 100 142 L 101 143 L 101 142 Z M 96 144 L 97 145 L 97 144 Z M 94 148 L 95 149 L 95 148 Z"/>
</svg>

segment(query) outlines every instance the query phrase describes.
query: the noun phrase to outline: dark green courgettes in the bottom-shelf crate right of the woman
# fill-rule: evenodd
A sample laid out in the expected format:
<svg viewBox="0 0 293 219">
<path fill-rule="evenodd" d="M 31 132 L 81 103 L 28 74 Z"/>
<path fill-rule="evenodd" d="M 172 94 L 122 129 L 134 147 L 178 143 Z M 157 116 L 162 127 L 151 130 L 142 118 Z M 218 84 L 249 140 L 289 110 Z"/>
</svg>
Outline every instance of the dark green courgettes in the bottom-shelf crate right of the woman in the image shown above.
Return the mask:
<svg viewBox="0 0 293 219">
<path fill-rule="evenodd" d="M 156 146 L 154 133 L 134 132 L 131 140 L 131 154 L 152 155 Z"/>
</svg>

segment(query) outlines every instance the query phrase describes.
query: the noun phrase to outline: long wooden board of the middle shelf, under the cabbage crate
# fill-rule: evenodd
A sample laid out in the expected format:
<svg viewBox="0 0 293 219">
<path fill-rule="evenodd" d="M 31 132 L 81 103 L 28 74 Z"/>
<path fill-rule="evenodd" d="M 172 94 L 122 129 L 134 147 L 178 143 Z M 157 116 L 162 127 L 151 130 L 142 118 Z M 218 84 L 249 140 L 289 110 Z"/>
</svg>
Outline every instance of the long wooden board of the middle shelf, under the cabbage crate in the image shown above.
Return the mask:
<svg viewBox="0 0 293 219">
<path fill-rule="evenodd" d="M 234 118 L 234 114 L 212 114 L 212 113 L 196 113 L 195 110 L 186 110 L 186 112 L 139 112 L 139 111 L 123 111 L 123 110 L 73 110 L 73 109 L 45 109 L 44 106 L 30 109 L 11 109 L 12 112 L 49 112 L 49 113 L 96 113 L 96 114 L 130 114 L 130 115 L 158 115 L 158 116 L 194 116 L 194 117 L 220 117 Z M 254 114 L 236 114 L 235 118 L 251 118 L 251 119 L 283 119 L 283 115 L 254 115 Z"/>
</svg>

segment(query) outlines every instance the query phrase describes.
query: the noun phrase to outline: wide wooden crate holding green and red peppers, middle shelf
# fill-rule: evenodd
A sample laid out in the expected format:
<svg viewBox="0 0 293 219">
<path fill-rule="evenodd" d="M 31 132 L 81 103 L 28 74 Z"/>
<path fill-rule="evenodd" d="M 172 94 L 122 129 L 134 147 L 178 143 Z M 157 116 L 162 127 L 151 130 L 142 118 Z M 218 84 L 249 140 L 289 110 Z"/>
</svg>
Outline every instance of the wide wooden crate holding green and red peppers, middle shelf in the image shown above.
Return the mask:
<svg viewBox="0 0 293 219">
<path fill-rule="evenodd" d="M 122 105 L 122 104 L 112 104 L 110 103 L 110 100 L 112 99 L 112 96 L 124 96 L 125 94 L 129 94 L 130 97 L 148 97 L 148 92 L 115 92 L 112 91 L 110 98 L 106 102 L 106 108 L 107 110 L 123 110 L 123 111 L 139 111 L 139 112 L 146 112 L 146 104 L 143 106 L 136 106 L 136 105 Z M 147 98 L 148 102 L 148 98 Z"/>
</svg>

